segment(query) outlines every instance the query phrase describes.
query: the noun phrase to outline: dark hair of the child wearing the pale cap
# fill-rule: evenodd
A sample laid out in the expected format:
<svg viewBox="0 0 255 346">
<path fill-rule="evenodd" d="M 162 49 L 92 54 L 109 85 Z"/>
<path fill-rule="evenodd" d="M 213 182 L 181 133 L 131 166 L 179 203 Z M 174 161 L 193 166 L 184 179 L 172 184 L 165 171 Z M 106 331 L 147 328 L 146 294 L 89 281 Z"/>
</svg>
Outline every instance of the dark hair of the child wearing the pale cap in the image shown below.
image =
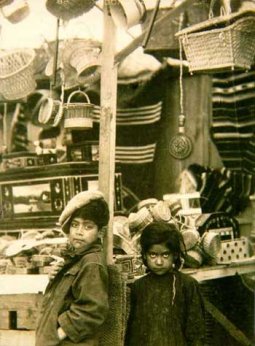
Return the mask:
<svg viewBox="0 0 255 346">
<path fill-rule="evenodd" d="M 103 226 L 106 226 L 109 222 L 108 204 L 103 199 L 93 200 L 85 206 L 77 209 L 72 214 L 70 222 L 75 217 L 82 217 L 83 219 L 92 220 L 100 229 Z"/>
</svg>

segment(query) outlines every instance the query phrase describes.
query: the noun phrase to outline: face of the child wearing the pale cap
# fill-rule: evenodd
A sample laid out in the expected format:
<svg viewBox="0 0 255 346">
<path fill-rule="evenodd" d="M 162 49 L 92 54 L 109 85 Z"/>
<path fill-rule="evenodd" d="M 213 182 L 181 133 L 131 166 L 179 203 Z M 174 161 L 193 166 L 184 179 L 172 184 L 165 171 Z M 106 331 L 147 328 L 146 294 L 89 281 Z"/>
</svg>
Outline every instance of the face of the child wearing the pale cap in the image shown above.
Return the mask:
<svg viewBox="0 0 255 346">
<path fill-rule="evenodd" d="M 98 238 L 98 226 L 91 220 L 75 217 L 70 223 L 69 241 L 75 249 L 94 243 Z"/>
</svg>

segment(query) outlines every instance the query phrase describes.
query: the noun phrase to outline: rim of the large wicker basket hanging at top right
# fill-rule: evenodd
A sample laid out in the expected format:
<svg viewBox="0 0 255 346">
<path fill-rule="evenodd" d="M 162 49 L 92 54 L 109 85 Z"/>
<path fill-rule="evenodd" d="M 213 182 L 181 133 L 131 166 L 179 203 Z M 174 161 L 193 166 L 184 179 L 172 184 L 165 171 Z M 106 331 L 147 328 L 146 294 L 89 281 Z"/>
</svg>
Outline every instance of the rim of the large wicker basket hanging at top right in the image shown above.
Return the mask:
<svg viewBox="0 0 255 346">
<path fill-rule="evenodd" d="M 217 26 L 217 25 L 225 24 L 225 23 L 229 23 L 229 24 L 231 23 L 231 25 L 228 26 L 228 27 L 230 27 L 230 26 L 236 24 L 238 18 L 239 18 L 239 20 L 238 20 L 238 22 L 239 22 L 241 20 L 246 20 L 247 17 L 255 18 L 255 10 L 240 11 L 240 12 L 233 13 L 233 14 L 226 15 L 226 16 L 207 19 L 201 23 L 191 25 L 188 28 L 185 28 L 183 30 L 178 31 L 175 34 L 175 36 L 179 37 L 179 36 L 183 36 L 185 34 L 197 33 L 197 32 L 202 31 L 204 29 L 209 30 L 213 26 Z M 224 28 L 215 28 L 213 30 L 219 30 L 219 29 L 222 30 Z"/>
</svg>

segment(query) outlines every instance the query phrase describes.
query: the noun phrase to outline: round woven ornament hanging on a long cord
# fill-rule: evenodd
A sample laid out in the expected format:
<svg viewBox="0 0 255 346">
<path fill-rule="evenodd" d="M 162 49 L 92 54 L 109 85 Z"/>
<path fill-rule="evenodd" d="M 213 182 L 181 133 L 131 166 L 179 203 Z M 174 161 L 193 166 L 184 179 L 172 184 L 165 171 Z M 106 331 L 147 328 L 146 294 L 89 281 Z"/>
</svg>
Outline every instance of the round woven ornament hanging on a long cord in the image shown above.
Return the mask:
<svg viewBox="0 0 255 346">
<path fill-rule="evenodd" d="M 181 20 L 180 20 L 181 22 Z M 182 46 L 181 41 L 179 41 L 179 52 L 180 52 L 180 115 L 178 117 L 178 133 L 173 136 L 169 143 L 169 152 L 170 154 L 178 160 L 184 160 L 192 152 L 192 141 L 185 134 L 185 120 L 186 116 L 184 114 L 183 106 L 183 61 L 182 61 Z"/>
</svg>

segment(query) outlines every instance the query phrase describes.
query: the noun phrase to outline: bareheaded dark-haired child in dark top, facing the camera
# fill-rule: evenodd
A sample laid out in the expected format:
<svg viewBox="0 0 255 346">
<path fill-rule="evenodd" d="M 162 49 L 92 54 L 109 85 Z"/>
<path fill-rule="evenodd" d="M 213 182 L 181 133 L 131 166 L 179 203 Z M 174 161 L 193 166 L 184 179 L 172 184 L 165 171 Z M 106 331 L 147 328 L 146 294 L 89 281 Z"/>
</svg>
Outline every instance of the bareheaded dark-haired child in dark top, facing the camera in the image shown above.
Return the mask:
<svg viewBox="0 0 255 346">
<path fill-rule="evenodd" d="M 128 346 L 203 345 L 204 308 L 199 286 L 178 270 L 183 241 L 175 225 L 153 222 L 140 238 L 148 274 L 131 287 Z"/>
</svg>

